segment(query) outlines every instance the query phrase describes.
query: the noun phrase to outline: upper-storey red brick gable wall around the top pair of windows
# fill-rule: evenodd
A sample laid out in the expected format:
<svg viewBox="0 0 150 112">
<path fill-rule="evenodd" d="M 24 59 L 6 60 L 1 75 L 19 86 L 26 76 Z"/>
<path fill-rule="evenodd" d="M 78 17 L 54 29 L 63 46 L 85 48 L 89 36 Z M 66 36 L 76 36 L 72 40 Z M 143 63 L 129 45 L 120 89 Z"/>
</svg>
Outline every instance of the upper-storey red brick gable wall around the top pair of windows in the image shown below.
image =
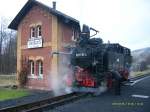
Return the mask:
<svg viewBox="0 0 150 112">
<path fill-rule="evenodd" d="M 39 6 L 33 6 L 30 11 L 25 15 L 25 17 L 20 22 L 22 27 L 21 44 L 27 45 L 28 40 L 33 37 L 31 36 L 31 29 L 35 28 L 35 37 L 37 36 L 37 27 L 41 26 L 42 40 L 44 42 L 51 41 L 52 34 L 52 15 L 47 11 L 43 10 Z M 27 48 L 27 47 L 24 47 Z"/>
</svg>

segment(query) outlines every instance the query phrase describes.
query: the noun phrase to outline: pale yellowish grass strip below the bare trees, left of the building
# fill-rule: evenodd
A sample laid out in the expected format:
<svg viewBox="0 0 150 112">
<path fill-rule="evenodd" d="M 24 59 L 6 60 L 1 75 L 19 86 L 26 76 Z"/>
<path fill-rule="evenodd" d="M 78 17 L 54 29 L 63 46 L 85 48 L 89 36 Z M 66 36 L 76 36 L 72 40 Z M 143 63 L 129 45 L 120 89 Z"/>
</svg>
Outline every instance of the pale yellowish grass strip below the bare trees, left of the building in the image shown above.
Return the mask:
<svg viewBox="0 0 150 112">
<path fill-rule="evenodd" d="M 0 75 L 0 85 L 15 85 L 16 75 Z"/>
</svg>

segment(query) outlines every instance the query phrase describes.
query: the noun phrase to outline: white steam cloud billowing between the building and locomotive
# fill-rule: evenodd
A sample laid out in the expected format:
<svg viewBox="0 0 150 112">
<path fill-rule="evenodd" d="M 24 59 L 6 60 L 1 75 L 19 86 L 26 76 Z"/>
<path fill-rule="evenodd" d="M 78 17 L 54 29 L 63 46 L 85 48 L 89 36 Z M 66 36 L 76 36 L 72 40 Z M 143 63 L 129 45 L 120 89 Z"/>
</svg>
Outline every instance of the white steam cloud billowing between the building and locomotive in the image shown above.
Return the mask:
<svg viewBox="0 0 150 112">
<path fill-rule="evenodd" d="M 50 87 L 56 96 L 71 93 L 72 70 L 69 67 L 69 55 L 59 54 L 58 69 L 52 69 L 50 72 Z"/>
</svg>

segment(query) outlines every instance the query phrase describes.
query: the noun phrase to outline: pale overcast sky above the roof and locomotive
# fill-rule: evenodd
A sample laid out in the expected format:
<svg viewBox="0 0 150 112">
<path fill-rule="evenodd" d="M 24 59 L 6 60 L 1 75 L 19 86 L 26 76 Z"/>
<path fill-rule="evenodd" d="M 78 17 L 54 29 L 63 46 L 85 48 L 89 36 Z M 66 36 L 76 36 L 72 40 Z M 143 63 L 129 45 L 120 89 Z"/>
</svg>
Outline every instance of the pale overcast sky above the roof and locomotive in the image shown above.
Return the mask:
<svg viewBox="0 0 150 112">
<path fill-rule="evenodd" d="M 1 0 L 0 16 L 12 20 L 28 0 Z M 52 0 L 38 0 L 52 6 Z M 100 31 L 104 42 L 131 50 L 150 47 L 150 0 L 55 0 L 56 9 Z"/>
</svg>

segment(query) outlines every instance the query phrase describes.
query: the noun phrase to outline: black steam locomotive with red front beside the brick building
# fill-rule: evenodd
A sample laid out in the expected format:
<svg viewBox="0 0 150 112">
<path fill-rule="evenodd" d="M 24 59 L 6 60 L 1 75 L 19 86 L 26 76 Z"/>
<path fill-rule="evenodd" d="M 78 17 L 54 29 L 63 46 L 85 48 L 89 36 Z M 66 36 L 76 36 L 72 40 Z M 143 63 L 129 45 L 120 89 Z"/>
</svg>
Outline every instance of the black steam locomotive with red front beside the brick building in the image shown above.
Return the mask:
<svg viewBox="0 0 150 112">
<path fill-rule="evenodd" d="M 120 83 L 128 80 L 130 49 L 118 43 L 103 43 L 101 38 L 91 38 L 90 30 L 95 31 L 93 36 L 98 33 L 83 25 L 76 47 L 71 53 L 70 62 L 75 79 L 73 90 L 99 94 L 115 85 L 115 91 L 119 92 Z"/>
</svg>

